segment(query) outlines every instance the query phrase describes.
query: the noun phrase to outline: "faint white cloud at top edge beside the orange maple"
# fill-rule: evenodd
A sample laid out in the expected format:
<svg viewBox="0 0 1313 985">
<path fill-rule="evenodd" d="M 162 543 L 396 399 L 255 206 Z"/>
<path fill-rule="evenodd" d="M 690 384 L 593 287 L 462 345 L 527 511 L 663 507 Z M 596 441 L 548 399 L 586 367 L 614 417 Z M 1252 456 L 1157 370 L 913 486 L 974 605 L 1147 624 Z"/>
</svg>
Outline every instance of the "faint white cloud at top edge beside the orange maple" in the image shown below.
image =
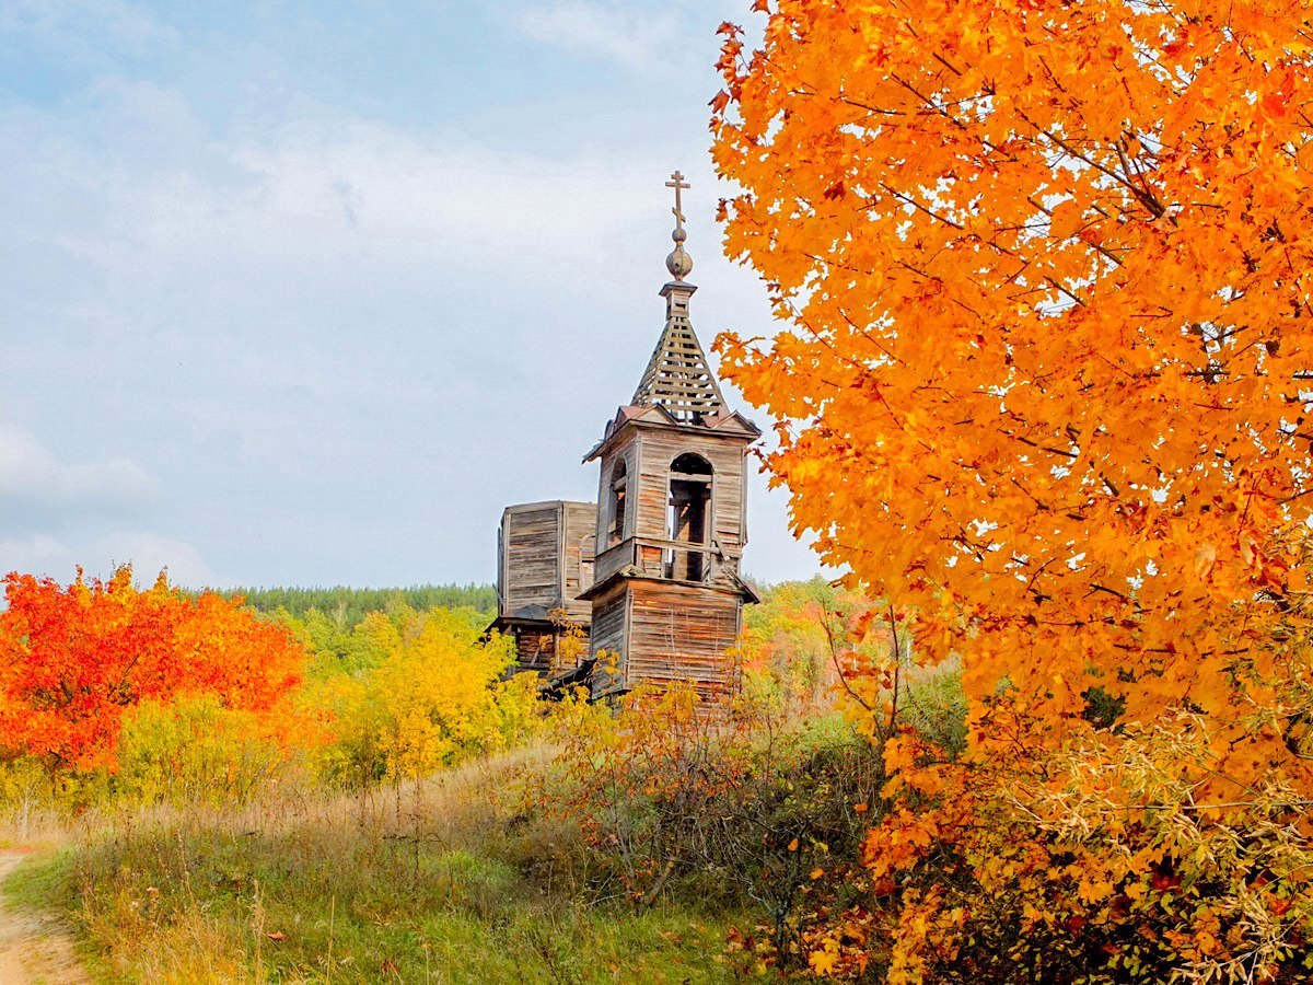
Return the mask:
<svg viewBox="0 0 1313 985">
<path fill-rule="evenodd" d="M 684 60 L 680 16 L 668 7 L 642 12 L 632 0 L 558 0 L 520 12 L 516 28 L 540 43 L 616 62 L 643 75 L 656 75 L 671 62 Z"/>
</svg>

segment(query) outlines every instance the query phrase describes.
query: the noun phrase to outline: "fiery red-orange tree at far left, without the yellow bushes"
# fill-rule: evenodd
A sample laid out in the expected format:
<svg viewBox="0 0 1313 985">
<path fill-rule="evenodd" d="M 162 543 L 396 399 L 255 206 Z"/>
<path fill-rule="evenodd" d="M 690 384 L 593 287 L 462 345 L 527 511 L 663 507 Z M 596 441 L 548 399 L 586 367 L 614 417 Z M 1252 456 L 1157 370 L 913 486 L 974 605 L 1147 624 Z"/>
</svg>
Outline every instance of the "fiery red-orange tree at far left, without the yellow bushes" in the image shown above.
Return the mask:
<svg viewBox="0 0 1313 985">
<path fill-rule="evenodd" d="M 184 595 L 163 574 L 146 591 L 127 566 L 67 588 L 20 574 L 4 584 L 0 747 L 11 755 L 113 767 L 123 712 L 181 695 L 215 695 L 273 726 L 301 679 L 305 655 L 285 626 Z"/>
</svg>

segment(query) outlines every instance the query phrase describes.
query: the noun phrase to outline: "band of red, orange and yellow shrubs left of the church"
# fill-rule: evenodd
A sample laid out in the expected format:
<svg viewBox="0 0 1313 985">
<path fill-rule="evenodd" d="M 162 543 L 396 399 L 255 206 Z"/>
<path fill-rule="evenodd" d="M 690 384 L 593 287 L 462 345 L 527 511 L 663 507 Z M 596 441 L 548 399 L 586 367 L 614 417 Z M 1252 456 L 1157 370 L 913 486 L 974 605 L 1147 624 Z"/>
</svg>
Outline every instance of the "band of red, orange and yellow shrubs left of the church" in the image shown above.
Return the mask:
<svg viewBox="0 0 1313 985">
<path fill-rule="evenodd" d="M 140 590 L 129 567 L 5 586 L 0 802 L 16 818 L 418 779 L 541 725 L 536 682 L 503 680 L 508 644 L 482 640 L 473 609 L 402 603 L 341 626 L 259 616 L 163 575 Z"/>
</svg>

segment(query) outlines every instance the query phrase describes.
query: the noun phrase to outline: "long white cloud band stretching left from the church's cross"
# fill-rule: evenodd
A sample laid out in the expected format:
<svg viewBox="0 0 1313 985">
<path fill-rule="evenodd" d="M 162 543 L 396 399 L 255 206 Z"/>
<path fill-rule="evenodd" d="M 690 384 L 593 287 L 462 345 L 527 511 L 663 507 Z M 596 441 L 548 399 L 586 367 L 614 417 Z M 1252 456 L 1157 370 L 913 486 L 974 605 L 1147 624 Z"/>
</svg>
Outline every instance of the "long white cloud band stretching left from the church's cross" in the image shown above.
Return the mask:
<svg viewBox="0 0 1313 985">
<path fill-rule="evenodd" d="M 423 257 L 439 264 L 435 273 L 507 252 L 550 261 L 554 248 L 604 240 L 642 214 L 634 192 L 651 169 L 515 155 L 366 122 L 303 125 L 239 148 L 234 160 L 255 189 L 230 218 L 259 236 L 252 248 Z"/>
</svg>

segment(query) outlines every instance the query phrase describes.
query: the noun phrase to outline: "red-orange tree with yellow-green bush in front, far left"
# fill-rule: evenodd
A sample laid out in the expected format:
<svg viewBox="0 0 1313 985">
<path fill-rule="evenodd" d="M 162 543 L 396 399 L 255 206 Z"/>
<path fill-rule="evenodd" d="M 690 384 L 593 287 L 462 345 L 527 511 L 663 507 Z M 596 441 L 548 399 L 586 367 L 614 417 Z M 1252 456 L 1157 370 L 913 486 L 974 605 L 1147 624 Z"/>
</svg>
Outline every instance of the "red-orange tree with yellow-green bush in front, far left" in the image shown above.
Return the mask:
<svg viewBox="0 0 1313 985">
<path fill-rule="evenodd" d="M 62 587 L 11 574 L 0 612 L 0 797 L 34 813 L 243 799 L 307 738 L 305 653 L 214 595 L 146 590 L 131 569 Z"/>
</svg>

